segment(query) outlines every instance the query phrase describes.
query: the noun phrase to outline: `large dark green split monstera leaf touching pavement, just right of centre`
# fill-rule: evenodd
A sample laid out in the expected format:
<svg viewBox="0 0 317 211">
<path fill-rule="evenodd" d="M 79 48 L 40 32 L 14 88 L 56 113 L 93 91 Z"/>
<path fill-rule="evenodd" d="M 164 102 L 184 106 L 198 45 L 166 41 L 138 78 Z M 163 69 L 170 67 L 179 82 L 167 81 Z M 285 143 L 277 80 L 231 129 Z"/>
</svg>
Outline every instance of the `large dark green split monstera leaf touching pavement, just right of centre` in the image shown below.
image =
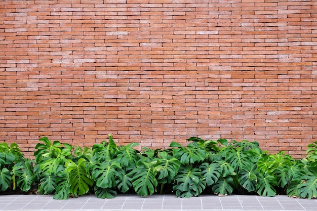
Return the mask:
<svg viewBox="0 0 317 211">
<path fill-rule="evenodd" d="M 174 178 L 177 197 L 190 198 L 198 196 L 206 188 L 206 181 L 202 178 L 199 168 L 192 168 L 191 165 L 181 165 L 178 174 Z"/>
</svg>

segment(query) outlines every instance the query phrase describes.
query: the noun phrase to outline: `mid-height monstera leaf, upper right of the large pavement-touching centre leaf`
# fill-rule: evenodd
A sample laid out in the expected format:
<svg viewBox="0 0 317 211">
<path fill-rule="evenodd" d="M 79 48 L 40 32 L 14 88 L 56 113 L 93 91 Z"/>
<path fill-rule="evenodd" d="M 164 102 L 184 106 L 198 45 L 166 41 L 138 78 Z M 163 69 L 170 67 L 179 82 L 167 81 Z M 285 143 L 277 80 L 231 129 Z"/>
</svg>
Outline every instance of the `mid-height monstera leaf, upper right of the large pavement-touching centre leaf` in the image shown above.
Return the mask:
<svg viewBox="0 0 317 211">
<path fill-rule="evenodd" d="M 210 164 L 204 162 L 199 166 L 199 168 L 202 171 L 202 177 L 206 179 L 206 184 L 208 186 L 213 185 L 215 182 L 217 182 L 219 177 L 221 176 L 220 165 L 218 162 L 213 162 Z"/>
</svg>

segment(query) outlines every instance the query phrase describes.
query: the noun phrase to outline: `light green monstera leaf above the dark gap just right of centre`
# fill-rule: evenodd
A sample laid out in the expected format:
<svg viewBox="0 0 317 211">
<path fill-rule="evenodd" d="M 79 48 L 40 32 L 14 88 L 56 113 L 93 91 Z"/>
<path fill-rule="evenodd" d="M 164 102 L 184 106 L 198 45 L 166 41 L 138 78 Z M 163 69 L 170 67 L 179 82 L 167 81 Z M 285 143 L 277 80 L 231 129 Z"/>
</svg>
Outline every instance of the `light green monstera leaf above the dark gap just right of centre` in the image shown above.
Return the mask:
<svg viewBox="0 0 317 211">
<path fill-rule="evenodd" d="M 171 183 L 178 172 L 180 161 L 166 152 L 160 152 L 158 155 L 160 157 L 155 159 L 157 162 L 154 165 L 157 180 L 160 183 Z"/>
</svg>

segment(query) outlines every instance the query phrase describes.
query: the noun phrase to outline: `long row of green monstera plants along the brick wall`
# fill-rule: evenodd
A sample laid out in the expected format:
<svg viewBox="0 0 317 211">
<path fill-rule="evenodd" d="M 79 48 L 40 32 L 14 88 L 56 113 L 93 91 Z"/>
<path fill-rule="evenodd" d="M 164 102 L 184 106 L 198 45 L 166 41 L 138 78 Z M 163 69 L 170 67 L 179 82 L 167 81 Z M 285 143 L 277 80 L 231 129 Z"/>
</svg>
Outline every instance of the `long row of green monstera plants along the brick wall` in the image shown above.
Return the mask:
<svg viewBox="0 0 317 211">
<path fill-rule="evenodd" d="M 0 193 L 53 194 L 67 199 L 84 194 L 113 198 L 117 194 L 258 194 L 317 197 L 317 141 L 307 156 L 269 154 L 257 142 L 188 139 L 168 149 L 117 146 L 109 140 L 92 148 L 39 139 L 34 160 L 16 143 L 0 144 Z"/>
</svg>

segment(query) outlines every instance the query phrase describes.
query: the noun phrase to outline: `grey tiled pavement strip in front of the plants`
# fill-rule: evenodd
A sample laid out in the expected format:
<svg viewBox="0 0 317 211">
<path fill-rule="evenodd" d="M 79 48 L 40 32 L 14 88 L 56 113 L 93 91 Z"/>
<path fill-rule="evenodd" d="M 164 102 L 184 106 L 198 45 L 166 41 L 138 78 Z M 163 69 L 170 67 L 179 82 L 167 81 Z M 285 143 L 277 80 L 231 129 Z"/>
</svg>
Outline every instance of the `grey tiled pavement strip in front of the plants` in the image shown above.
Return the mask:
<svg viewBox="0 0 317 211">
<path fill-rule="evenodd" d="M 317 199 L 289 198 L 288 196 L 262 197 L 256 195 L 202 195 L 177 198 L 175 195 L 118 195 L 113 199 L 99 199 L 85 195 L 66 200 L 55 200 L 52 195 L 0 195 L 0 210 L 317 210 Z"/>
</svg>

